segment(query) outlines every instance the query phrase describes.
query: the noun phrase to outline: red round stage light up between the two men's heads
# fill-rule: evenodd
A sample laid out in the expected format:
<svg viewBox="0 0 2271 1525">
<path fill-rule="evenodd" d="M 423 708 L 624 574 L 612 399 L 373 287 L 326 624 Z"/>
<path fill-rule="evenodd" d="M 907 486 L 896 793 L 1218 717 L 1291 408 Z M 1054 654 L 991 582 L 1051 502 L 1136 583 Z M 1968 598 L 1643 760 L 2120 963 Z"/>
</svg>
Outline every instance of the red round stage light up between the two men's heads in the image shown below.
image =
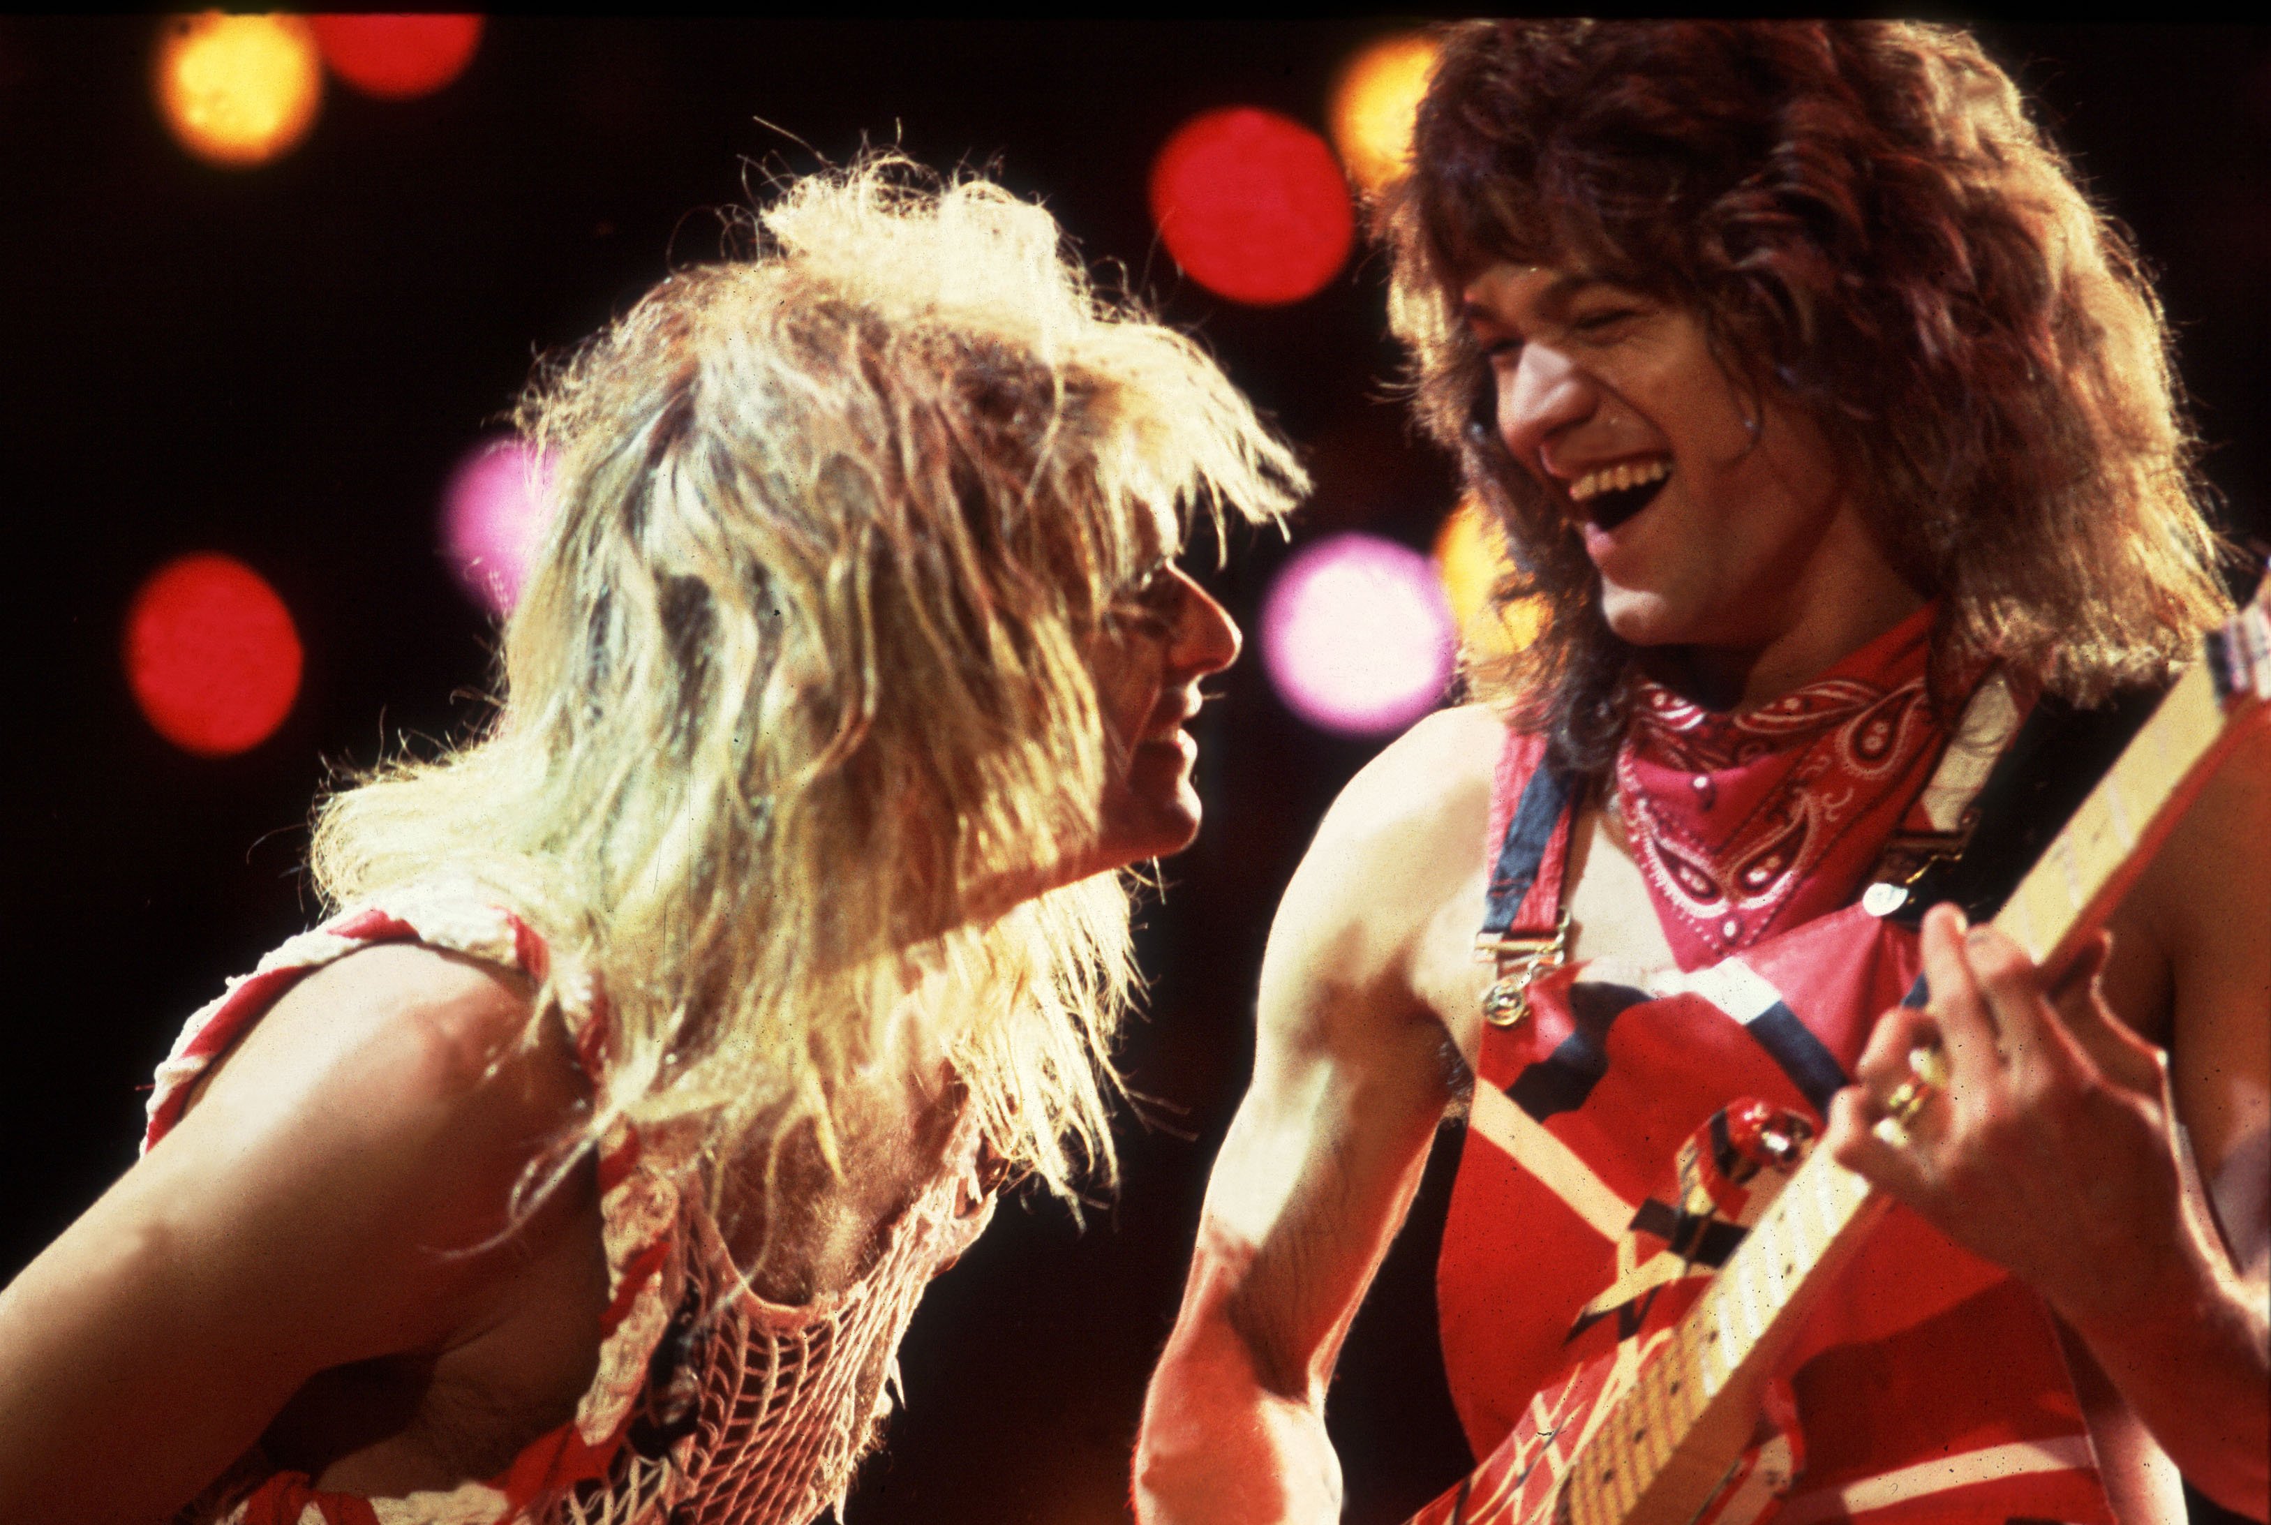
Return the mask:
<svg viewBox="0 0 2271 1525">
<path fill-rule="evenodd" d="M 1151 220 L 1195 282 L 1254 307 L 1322 291 L 1356 236 L 1333 150 L 1256 107 L 1206 111 L 1167 139 L 1151 161 Z"/>
</svg>

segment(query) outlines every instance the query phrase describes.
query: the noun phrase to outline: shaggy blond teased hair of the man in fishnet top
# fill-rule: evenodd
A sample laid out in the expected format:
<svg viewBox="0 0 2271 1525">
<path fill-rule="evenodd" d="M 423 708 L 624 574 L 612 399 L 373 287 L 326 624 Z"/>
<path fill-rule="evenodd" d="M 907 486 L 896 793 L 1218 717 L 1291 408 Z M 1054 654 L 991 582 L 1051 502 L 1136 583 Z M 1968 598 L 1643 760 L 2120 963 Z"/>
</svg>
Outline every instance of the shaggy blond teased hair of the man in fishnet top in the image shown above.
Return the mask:
<svg viewBox="0 0 2271 1525">
<path fill-rule="evenodd" d="M 749 234 L 531 384 L 559 511 L 500 718 L 334 795 L 316 877 L 470 875 L 597 975 L 579 1141 L 695 1120 L 715 1164 L 808 1123 L 833 1159 L 831 1095 L 920 986 L 992 1145 L 1070 1198 L 1115 1173 L 1129 884 L 1002 889 L 1097 839 L 1086 650 L 1174 550 L 1158 514 L 1306 482 L 995 184 L 870 157 Z"/>
</svg>

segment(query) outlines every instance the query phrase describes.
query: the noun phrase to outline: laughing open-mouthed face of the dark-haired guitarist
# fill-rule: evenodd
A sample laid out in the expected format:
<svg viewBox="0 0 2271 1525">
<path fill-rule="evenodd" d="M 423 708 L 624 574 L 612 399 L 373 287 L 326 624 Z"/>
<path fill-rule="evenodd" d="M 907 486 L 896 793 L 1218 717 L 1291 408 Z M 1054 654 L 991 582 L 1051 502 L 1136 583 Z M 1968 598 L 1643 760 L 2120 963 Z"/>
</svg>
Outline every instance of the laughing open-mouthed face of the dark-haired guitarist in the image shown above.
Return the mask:
<svg viewBox="0 0 2271 1525">
<path fill-rule="evenodd" d="M 1465 289 L 1499 436 L 1558 502 L 1633 645 L 1758 650 L 1844 507 L 1815 425 L 1712 359 L 1696 314 L 1576 268 L 1492 264 Z"/>
</svg>

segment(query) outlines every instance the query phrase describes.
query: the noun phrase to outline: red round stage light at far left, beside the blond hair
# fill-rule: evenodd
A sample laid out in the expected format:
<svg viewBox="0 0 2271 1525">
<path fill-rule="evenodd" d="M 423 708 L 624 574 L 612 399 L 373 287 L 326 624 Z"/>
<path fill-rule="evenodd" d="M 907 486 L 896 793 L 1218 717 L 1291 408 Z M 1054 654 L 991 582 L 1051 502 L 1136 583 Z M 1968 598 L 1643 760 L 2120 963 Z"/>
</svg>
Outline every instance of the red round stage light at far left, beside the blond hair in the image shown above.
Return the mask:
<svg viewBox="0 0 2271 1525">
<path fill-rule="evenodd" d="M 198 757 L 229 757 L 268 741 L 291 714 L 300 632 L 259 573 L 198 552 L 161 566 L 134 595 L 125 666 L 159 736 Z"/>
</svg>

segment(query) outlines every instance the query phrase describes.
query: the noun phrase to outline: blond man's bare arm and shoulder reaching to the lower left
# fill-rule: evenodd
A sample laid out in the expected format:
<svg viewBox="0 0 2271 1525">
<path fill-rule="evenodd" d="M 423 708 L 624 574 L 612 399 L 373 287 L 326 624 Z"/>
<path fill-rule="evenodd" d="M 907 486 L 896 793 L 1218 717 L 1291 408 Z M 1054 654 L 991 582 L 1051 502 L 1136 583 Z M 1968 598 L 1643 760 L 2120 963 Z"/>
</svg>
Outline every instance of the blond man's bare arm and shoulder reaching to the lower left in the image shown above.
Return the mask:
<svg viewBox="0 0 2271 1525">
<path fill-rule="evenodd" d="M 488 1320 L 511 1250 L 436 1248 L 506 1227 L 577 1098 L 543 1055 L 491 1070 L 525 1011 L 502 977 L 413 948 L 277 1002 L 0 1293 L 0 1523 L 166 1518 L 313 1373 Z"/>
</svg>

